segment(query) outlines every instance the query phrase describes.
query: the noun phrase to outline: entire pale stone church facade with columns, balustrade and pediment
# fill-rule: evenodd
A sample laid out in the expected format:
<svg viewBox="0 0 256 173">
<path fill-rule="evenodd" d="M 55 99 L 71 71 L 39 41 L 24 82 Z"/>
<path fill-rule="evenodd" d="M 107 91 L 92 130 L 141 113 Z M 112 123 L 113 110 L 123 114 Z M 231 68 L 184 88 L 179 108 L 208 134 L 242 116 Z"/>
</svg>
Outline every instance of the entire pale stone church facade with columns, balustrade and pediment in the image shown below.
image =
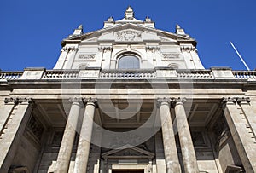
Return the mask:
<svg viewBox="0 0 256 173">
<path fill-rule="evenodd" d="M 256 72 L 137 20 L 74 30 L 53 70 L 0 72 L 0 172 L 256 171 Z"/>
</svg>

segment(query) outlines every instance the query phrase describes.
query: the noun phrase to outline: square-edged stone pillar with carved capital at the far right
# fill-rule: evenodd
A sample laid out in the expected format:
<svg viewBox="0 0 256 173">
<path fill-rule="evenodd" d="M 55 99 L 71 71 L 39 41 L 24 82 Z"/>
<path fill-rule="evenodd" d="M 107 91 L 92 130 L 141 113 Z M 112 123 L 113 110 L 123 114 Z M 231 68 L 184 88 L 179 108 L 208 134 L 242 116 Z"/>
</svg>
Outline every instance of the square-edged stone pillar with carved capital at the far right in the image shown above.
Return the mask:
<svg viewBox="0 0 256 173">
<path fill-rule="evenodd" d="M 246 172 L 256 172 L 256 141 L 248 124 L 247 115 L 236 104 L 237 98 L 224 98 L 223 102 L 224 116 L 229 125 L 241 163 Z"/>
</svg>

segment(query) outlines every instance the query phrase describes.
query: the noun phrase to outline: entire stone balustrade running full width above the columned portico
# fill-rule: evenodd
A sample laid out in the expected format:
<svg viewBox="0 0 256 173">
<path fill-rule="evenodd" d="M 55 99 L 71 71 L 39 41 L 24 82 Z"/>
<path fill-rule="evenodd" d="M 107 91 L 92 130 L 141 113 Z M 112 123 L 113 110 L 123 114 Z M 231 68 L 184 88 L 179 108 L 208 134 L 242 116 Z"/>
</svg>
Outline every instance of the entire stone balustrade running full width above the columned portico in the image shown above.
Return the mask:
<svg viewBox="0 0 256 173">
<path fill-rule="evenodd" d="M 84 71 L 90 72 L 90 69 L 86 69 Z M 160 78 L 166 77 L 162 76 L 162 74 L 166 74 L 170 69 L 160 70 L 161 76 L 158 76 L 158 73 L 154 69 L 139 69 L 139 70 L 120 70 L 120 69 L 108 69 L 108 70 L 98 70 L 99 74 L 94 78 L 121 78 L 121 79 L 129 79 L 129 78 Z M 256 81 L 256 71 L 221 71 L 216 69 L 210 70 L 188 70 L 188 69 L 177 69 L 171 70 L 172 76 L 171 78 L 182 78 L 182 79 L 219 79 L 219 78 L 233 78 L 233 79 L 243 79 L 248 81 Z M 27 72 L 27 71 L 26 71 Z M 43 72 L 43 71 L 42 71 Z M 42 77 L 32 78 L 32 79 L 49 79 L 49 80 L 60 80 L 60 79 L 86 79 L 86 76 L 81 78 L 79 76 L 79 72 L 81 70 L 45 70 L 43 72 Z M 227 72 L 230 72 L 230 75 Z M 30 73 L 26 73 L 29 75 Z M 0 72 L 0 80 L 20 80 L 27 79 L 23 78 L 24 72 Z"/>
</svg>

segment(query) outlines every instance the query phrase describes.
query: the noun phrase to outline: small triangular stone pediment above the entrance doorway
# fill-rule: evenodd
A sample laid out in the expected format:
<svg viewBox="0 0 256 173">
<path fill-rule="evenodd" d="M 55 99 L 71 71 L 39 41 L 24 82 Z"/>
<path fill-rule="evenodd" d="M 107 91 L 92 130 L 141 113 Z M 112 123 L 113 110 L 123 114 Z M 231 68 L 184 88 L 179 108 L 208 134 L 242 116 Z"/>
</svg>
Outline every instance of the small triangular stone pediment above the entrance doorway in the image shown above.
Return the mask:
<svg viewBox="0 0 256 173">
<path fill-rule="evenodd" d="M 125 149 L 113 149 L 106 153 L 102 153 L 103 158 L 154 158 L 154 153 L 148 152 L 139 147 L 131 147 Z"/>
</svg>

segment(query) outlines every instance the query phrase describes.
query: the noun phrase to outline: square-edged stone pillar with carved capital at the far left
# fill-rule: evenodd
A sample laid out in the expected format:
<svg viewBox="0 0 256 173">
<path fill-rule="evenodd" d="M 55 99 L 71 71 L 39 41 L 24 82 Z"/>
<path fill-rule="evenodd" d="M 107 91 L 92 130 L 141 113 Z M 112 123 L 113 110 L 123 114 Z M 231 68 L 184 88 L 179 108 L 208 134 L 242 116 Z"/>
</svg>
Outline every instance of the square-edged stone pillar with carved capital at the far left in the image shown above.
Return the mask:
<svg viewBox="0 0 256 173">
<path fill-rule="evenodd" d="M 0 139 L 0 172 L 8 172 L 34 107 L 31 98 L 8 98 L 5 103 L 14 103 L 15 107 L 10 112 Z"/>
</svg>

